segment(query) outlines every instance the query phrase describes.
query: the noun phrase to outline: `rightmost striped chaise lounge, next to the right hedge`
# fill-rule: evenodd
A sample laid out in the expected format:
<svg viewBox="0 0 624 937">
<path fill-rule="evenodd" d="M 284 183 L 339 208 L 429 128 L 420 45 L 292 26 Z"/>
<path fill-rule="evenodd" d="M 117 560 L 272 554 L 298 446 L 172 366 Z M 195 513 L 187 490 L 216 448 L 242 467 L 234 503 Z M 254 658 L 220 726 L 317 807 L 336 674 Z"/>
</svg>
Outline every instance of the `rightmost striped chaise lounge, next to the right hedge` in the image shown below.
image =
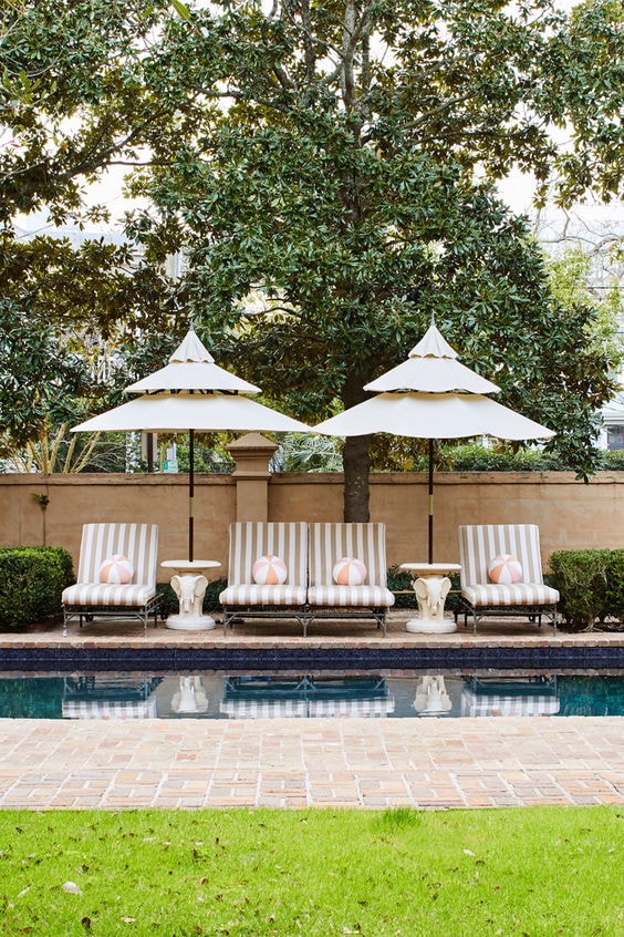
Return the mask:
<svg viewBox="0 0 624 937">
<path fill-rule="evenodd" d="M 544 585 L 540 554 L 540 534 L 535 524 L 482 524 L 458 528 L 461 564 L 460 606 L 464 624 L 472 616 L 472 628 L 487 616 L 529 616 L 550 618 L 557 631 L 557 589 Z M 520 581 L 492 583 L 489 568 L 496 557 L 511 555 L 520 564 Z"/>
</svg>

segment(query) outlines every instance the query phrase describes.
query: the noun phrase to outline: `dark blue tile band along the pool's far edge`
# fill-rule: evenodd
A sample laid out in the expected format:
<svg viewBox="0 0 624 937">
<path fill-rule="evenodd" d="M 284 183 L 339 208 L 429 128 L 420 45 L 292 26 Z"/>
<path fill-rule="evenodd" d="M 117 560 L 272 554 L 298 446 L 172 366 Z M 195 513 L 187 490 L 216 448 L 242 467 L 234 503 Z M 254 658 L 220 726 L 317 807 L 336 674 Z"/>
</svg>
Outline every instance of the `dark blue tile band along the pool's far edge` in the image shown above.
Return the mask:
<svg viewBox="0 0 624 937">
<path fill-rule="evenodd" d="M 72 670 L 603 670 L 624 668 L 624 647 L 245 648 L 7 647 L 0 671 Z"/>
</svg>

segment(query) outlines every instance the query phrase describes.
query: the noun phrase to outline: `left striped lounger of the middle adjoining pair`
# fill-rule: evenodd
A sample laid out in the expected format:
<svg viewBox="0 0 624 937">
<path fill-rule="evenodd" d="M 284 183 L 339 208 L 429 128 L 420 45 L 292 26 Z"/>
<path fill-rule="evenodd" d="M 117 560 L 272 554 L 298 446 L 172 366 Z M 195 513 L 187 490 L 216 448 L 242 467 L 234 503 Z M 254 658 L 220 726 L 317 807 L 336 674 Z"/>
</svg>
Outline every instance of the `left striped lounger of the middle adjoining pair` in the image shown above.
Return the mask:
<svg viewBox="0 0 624 937">
<path fill-rule="evenodd" d="M 263 557 L 285 565 L 285 580 L 270 581 L 253 566 Z M 267 583 L 262 583 L 268 578 Z M 219 596 L 223 632 L 245 618 L 293 618 L 308 626 L 308 524 L 304 522 L 238 521 L 230 524 L 228 585 Z"/>
</svg>

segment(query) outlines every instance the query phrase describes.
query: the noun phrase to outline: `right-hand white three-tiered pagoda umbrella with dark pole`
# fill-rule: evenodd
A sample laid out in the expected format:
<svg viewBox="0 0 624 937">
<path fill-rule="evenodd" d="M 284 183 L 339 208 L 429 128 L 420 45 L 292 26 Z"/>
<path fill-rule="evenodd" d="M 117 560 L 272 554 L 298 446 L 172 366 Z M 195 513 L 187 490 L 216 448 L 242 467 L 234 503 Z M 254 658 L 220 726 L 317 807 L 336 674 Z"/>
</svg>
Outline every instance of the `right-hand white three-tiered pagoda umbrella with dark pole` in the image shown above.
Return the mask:
<svg viewBox="0 0 624 937">
<path fill-rule="evenodd" d="M 434 562 L 434 441 L 469 436 L 550 439 L 552 430 L 490 400 L 499 391 L 457 360 L 457 352 L 431 325 L 409 358 L 364 390 L 382 391 L 314 426 L 334 436 L 392 433 L 429 440 L 428 563 Z"/>
</svg>

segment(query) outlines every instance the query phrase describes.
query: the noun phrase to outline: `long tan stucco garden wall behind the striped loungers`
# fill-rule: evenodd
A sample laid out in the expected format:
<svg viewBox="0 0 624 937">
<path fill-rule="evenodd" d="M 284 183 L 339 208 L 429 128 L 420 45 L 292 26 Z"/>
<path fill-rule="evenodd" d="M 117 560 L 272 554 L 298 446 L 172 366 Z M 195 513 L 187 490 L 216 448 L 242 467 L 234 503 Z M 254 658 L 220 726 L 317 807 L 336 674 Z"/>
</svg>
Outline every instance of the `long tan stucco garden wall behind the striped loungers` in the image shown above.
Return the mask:
<svg viewBox="0 0 624 937">
<path fill-rule="evenodd" d="M 341 521 L 340 474 L 242 471 L 196 476 L 195 556 L 226 573 L 228 525 L 237 519 Z M 44 511 L 37 495 L 46 495 Z M 155 522 L 160 559 L 188 549 L 188 480 L 180 475 L 0 475 L 0 545 L 63 546 L 77 562 L 82 524 Z M 420 473 L 371 477 L 371 519 L 387 526 L 388 565 L 426 559 L 427 478 Z M 437 473 L 436 560 L 457 562 L 457 526 L 534 523 L 544 562 L 555 549 L 624 547 L 624 472 L 583 484 L 573 473 Z M 218 574 L 215 574 L 215 576 Z M 159 579 L 168 579 L 159 570 Z"/>
</svg>

